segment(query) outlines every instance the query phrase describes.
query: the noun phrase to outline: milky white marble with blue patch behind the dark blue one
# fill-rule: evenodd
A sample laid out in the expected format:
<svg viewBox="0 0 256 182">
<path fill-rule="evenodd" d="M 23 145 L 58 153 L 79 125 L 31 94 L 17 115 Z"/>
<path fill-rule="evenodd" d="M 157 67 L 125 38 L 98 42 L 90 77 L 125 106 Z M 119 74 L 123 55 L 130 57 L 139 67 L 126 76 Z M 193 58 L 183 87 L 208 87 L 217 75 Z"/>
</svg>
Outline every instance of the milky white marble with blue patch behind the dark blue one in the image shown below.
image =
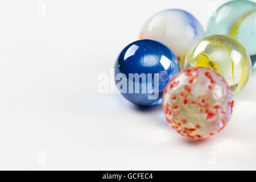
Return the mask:
<svg viewBox="0 0 256 182">
<path fill-rule="evenodd" d="M 164 43 L 174 51 L 184 68 L 188 49 L 205 36 L 201 23 L 187 11 L 170 9 L 153 15 L 144 24 L 139 39 L 152 39 Z"/>
</svg>

